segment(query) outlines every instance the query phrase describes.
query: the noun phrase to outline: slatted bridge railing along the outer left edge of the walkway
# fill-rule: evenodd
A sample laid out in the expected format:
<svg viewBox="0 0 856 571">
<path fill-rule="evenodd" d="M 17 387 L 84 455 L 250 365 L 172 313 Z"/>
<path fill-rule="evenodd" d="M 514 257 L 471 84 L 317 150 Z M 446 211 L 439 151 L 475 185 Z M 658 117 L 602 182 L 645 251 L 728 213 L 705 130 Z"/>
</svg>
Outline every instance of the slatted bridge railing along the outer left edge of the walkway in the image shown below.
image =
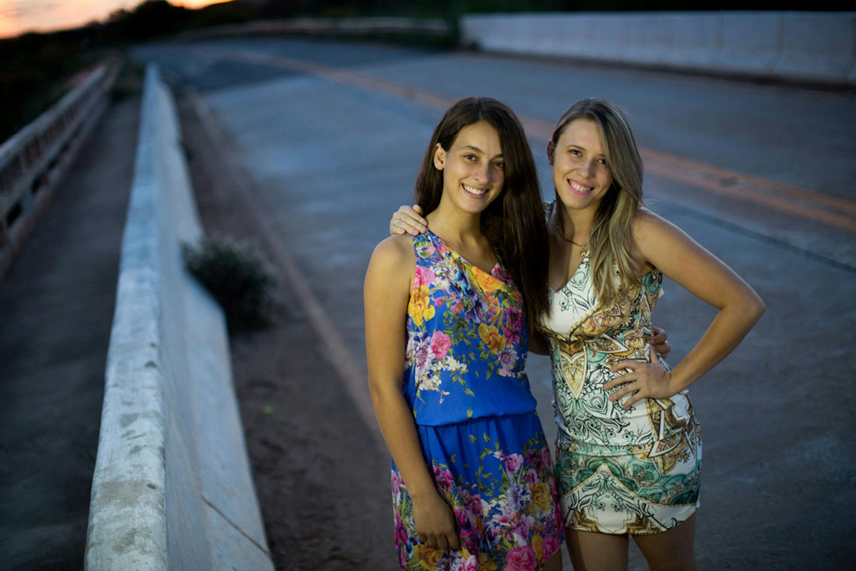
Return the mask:
<svg viewBox="0 0 856 571">
<path fill-rule="evenodd" d="M 103 64 L 0 146 L 0 278 L 9 270 L 86 135 L 107 107 L 118 65 Z"/>
</svg>

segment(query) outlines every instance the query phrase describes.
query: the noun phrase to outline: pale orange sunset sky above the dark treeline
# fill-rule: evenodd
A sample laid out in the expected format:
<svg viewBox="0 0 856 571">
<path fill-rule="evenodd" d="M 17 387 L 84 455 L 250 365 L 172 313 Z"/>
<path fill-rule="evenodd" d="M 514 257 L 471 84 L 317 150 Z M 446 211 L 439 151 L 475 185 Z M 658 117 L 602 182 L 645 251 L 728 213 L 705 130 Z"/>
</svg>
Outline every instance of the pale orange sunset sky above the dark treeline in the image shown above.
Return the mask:
<svg viewBox="0 0 856 571">
<path fill-rule="evenodd" d="M 227 0 L 171 0 L 199 8 Z M 49 32 L 104 20 L 111 12 L 134 8 L 142 0 L 0 0 L 0 38 L 38 30 Z"/>
</svg>

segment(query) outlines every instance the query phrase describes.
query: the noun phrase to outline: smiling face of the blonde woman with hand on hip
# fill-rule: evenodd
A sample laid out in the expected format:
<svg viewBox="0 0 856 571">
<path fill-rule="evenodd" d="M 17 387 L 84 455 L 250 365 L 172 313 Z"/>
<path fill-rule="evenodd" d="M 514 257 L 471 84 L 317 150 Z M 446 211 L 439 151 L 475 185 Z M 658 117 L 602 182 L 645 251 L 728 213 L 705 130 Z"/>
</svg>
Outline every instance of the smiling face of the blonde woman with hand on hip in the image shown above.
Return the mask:
<svg viewBox="0 0 856 571">
<path fill-rule="evenodd" d="M 568 123 L 556 146 L 553 141 L 547 144 L 547 157 L 553 165 L 553 184 L 562 203 L 574 210 L 596 211 L 612 186 L 597 123 L 590 119 Z"/>
</svg>

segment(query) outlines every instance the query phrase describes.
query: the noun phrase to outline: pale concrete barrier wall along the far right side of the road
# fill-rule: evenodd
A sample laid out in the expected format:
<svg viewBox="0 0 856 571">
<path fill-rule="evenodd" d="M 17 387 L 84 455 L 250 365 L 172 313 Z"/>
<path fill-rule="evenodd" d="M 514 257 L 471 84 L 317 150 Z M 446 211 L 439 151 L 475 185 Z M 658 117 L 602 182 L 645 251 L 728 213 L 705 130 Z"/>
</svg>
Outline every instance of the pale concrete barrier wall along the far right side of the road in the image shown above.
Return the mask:
<svg viewBox="0 0 856 571">
<path fill-rule="evenodd" d="M 485 51 L 856 84 L 856 12 L 465 15 Z"/>
</svg>

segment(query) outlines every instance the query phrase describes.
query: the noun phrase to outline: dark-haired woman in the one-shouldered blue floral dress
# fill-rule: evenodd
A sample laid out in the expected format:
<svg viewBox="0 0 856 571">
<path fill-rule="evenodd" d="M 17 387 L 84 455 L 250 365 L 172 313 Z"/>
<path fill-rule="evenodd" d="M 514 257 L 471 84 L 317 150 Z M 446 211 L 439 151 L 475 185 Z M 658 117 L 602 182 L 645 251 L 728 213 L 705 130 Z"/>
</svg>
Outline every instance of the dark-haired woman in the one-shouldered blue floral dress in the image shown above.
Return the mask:
<svg viewBox="0 0 856 571">
<path fill-rule="evenodd" d="M 416 194 L 431 230 L 381 242 L 365 283 L 401 568 L 559 571 L 558 490 L 524 372 L 527 324 L 548 307 L 547 233 L 514 113 L 491 98 L 449 108 Z"/>
</svg>

